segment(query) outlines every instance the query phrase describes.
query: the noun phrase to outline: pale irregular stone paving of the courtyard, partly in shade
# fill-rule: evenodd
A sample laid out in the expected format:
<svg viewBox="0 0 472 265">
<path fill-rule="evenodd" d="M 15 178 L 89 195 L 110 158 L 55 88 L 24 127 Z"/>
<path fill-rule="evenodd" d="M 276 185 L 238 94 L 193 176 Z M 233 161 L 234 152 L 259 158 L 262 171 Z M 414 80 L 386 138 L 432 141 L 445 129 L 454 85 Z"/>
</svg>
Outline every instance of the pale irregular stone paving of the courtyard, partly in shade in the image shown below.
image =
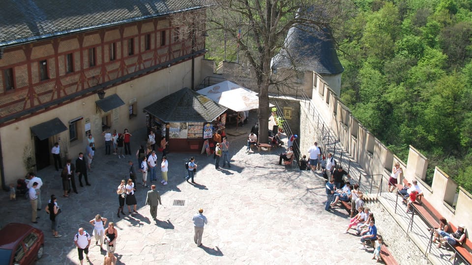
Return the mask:
<svg viewBox="0 0 472 265">
<path fill-rule="evenodd" d="M 45 254 L 37 264 L 79 264 L 73 236 L 79 227 L 91 234 L 89 220 L 97 213 L 116 223 L 118 264 L 374 264 L 372 248 L 359 250 L 359 238 L 343 234 L 346 211 L 324 211 L 324 179 L 285 170 L 277 164 L 282 149 L 246 153 L 246 135 L 229 136 L 231 168 L 215 170 L 214 160 L 206 155 L 170 153 L 169 184 L 154 182 L 163 204 L 157 221 L 144 205 L 148 189 L 140 185 L 136 192 L 139 214 L 117 217 L 115 190 L 128 175 L 130 156 L 105 156 L 104 147 L 98 148 L 89 173 L 92 185 L 78 187 L 79 194 L 69 198 L 61 196 L 59 172 L 53 166 L 39 171 L 37 176 L 44 182 L 43 206 L 51 194 L 58 196 L 63 210 L 58 230 L 63 237 L 52 237 L 48 215 L 39 212 L 39 223 L 33 226 L 45 233 Z M 132 138 L 136 152 L 137 139 L 144 139 L 145 131 L 134 132 Z M 184 180 L 184 161 L 190 156 L 199 165 L 196 185 Z M 135 156 L 131 160 L 137 164 Z M 7 192 L 1 198 L 2 226 L 8 222 L 31 224 L 27 200 L 8 201 Z M 174 200 L 185 200 L 185 205 L 173 206 Z M 208 225 L 203 246 L 197 247 L 191 218 L 200 207 Z M 90 264 L 102 264 L 104 254 L 92 239 Z"/>
</svg>

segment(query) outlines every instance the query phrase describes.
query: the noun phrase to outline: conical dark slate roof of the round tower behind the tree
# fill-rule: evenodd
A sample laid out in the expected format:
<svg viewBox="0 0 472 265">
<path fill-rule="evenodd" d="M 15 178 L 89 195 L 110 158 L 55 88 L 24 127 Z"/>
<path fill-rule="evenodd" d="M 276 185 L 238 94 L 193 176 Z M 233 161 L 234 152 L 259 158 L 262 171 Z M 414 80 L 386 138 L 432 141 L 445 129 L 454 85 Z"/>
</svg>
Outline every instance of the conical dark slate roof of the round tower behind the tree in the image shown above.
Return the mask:
<svg viewBox="0 0 472 265">
<path fill-rule="evenodd" d="M 293 68 L 299 71 L 314 71 L 323 75 L 344 72 L 327 29 L 292 27 L 285 39 L 286 47 L 272 59 L 272 68 Z"/>
</svg>

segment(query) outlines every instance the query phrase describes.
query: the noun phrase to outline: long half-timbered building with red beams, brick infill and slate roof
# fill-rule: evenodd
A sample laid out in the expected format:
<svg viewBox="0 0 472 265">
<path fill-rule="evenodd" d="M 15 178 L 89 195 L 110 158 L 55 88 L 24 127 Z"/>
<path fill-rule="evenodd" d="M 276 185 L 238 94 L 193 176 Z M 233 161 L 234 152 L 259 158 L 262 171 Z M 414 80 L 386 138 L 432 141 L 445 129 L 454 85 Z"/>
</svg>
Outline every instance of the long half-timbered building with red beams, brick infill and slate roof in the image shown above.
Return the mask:
<svg viewBox="0 0 472 265">
<path fill-rule="evenodd" d="M 144 106 L 199 83 L 204 25 L 173 17 L 204 11 L 190 0 L 3 1 L 1 185 L 50 165 L 55 142 L 75 158 L 88 133 L 101 146 L 105 128 L 141 128 Z"/>
</svg>

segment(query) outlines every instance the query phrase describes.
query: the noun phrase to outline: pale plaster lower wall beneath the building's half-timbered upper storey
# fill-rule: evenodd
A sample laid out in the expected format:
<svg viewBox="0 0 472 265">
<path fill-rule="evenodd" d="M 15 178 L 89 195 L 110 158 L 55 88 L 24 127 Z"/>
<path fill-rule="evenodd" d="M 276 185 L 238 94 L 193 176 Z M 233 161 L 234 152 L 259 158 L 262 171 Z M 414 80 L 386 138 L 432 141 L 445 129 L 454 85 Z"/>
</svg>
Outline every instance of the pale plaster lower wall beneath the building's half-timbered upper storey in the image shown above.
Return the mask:
<svg viewBox="0 0 472 265">
<path fill-rule="evenodd" d="M 201 81 L 200 67 L 202 58 L 203 56 L 195 59 L 195 84 L 198 84 Z M 116 109 L 118 111 L 118 120 L 112 123 L 112 131 L 116 129 L 118 132 L 123 132 L 124 128 L 127 128 L 130 132 L 133 132 L 138 128 L 145 127 L 146 116 L 145 113 L 143 113 L 144 107 L 180 90 L 183 87 L 190 87 L 190 85 L 191 60 L 188 60 L 169 68 L 162 69 L 161 71 L 106 89 L 105 97 L 118 94 L 125 103 L 125 105 Z M 137 116 L 130 119 L 128 115 L 128 106 L 130 101 L 134 99 L 136 99 L 137 102 Z M 5 184 L 8 185 L 14 183 L 18 178 L 26 175 L 27 172 L 23 165 L 25 146 L 29 145 L 31 147 L 32 157 L 34 158 L 34 140 L 29 128 L 56 117 L 58 117 L 67 127 L 69 126 L 70 120 L 80 116 L 84 117 L 81 121 L 81 128 L 78 129 L 79 133 L 83 133 L 84 135 L 82 141 L 77 140 L 70 143 L 68 131 L 61 132 L 53 137 L 54 140 L 58 139 L 58 137 L 61 139 L 60 146 L 62 157 L 64 157 L 67 152 L 71 159 L 75 159 L 79 152 L 85 151 L 87 140 L 85 138 L 84 127 L 85 119 L 87 118 L 90 118 L 91 133 L 95 138 L 98 152 L 100 152 L 100 149 L 103 148 L 105 144 L 105 140 L 101 135 L 101 126 L 94 126 L 94 119 L 99 119 L 101 124 L 101 117 L 102 115 L 105 115 L 105 113 L 97 113 L 95 104 L 95 101 L 97 100 L 98 96 L 92 94 L 88 97 L 67 103 L 63 106 L 59 106 L 11 125 L 1 127 L 1 152 L 3 156 Z M 114 110 L 111 112 L 113 111 Z M 113 120 L 113 113 L 111 116 Z M 132 146 L 131 149 L 132 151 L 136 150 L 136 147 Z"/>
</svg>

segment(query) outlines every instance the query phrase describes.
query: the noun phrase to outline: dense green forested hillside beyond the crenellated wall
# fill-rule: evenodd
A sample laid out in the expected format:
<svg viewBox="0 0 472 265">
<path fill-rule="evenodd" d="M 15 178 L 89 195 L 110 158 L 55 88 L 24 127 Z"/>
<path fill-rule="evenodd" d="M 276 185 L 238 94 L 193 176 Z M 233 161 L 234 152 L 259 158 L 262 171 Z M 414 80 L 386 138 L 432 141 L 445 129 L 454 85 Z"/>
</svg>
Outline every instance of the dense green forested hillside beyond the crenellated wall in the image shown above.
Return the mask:
<svg viewBox="0 0 472 265">
<path fill-rule="evenodd" d="M 406 161 L 409 145 L 472 190 L 472 1 L 357 0 L 336 32 L 341 99 Z"/>
</svg>

